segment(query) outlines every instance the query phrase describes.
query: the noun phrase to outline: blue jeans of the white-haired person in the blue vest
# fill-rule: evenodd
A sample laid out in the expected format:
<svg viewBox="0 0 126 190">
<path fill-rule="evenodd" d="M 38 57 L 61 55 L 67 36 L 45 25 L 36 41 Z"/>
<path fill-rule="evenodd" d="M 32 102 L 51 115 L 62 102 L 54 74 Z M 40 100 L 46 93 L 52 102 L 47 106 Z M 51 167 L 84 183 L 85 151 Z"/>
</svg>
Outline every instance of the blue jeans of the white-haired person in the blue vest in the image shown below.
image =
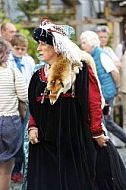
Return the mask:
<svg viewBox="0 0 126 190">
<path fill-rule="evenodd" d="M 106 104 L 110 104 L 111 109 L 112 109 L 110 115 L 105 115 L 104 116 L 106 128 L 107 128 L 108 131 L 110 131 L 111 133 L 113 133 L 113 135 L 115 135 L 121 141 L 123 141 L 124 143 L 126 143 L 126 133 L 113 120 L 113 101 L 114 101 L 114 98 L 105 101 Z"/>
</svg>

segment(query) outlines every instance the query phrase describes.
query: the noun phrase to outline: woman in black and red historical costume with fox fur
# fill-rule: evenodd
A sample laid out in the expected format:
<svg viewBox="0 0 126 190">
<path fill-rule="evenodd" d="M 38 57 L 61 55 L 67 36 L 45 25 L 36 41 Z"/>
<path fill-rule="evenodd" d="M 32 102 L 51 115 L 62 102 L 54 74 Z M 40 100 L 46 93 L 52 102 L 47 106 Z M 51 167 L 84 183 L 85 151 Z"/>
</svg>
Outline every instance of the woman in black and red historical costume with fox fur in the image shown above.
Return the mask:
<svg viewBox="0 0 126 190">
<path fill-rule="evenodd" d="M 114 190 L 111 143 L 102 128 L 101 93 L 91 67 L 65 26 L 43 19 L 33 38 L 48 64 L 29 85 L 27 190 Z"/>
</svg>

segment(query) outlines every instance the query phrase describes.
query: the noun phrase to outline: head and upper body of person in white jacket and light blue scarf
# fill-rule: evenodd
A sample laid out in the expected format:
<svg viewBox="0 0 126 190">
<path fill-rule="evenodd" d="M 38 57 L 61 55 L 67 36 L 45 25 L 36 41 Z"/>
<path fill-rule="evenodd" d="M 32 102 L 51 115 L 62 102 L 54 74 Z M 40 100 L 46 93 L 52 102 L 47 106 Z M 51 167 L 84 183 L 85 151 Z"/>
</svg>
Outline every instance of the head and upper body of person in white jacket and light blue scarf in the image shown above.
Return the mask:
<svg viewBox="0 0 126 190">
<path fill-rule="evenodd" d="M 28 40 L 23 34 L 17 33 L 11 40 L 12 52 L 10 53 L 8 66 L 17 67 L 23 74 L 24 79 L 29 85 L 35 67 L 34 59 L 27 54 Z"/>
</svg>

